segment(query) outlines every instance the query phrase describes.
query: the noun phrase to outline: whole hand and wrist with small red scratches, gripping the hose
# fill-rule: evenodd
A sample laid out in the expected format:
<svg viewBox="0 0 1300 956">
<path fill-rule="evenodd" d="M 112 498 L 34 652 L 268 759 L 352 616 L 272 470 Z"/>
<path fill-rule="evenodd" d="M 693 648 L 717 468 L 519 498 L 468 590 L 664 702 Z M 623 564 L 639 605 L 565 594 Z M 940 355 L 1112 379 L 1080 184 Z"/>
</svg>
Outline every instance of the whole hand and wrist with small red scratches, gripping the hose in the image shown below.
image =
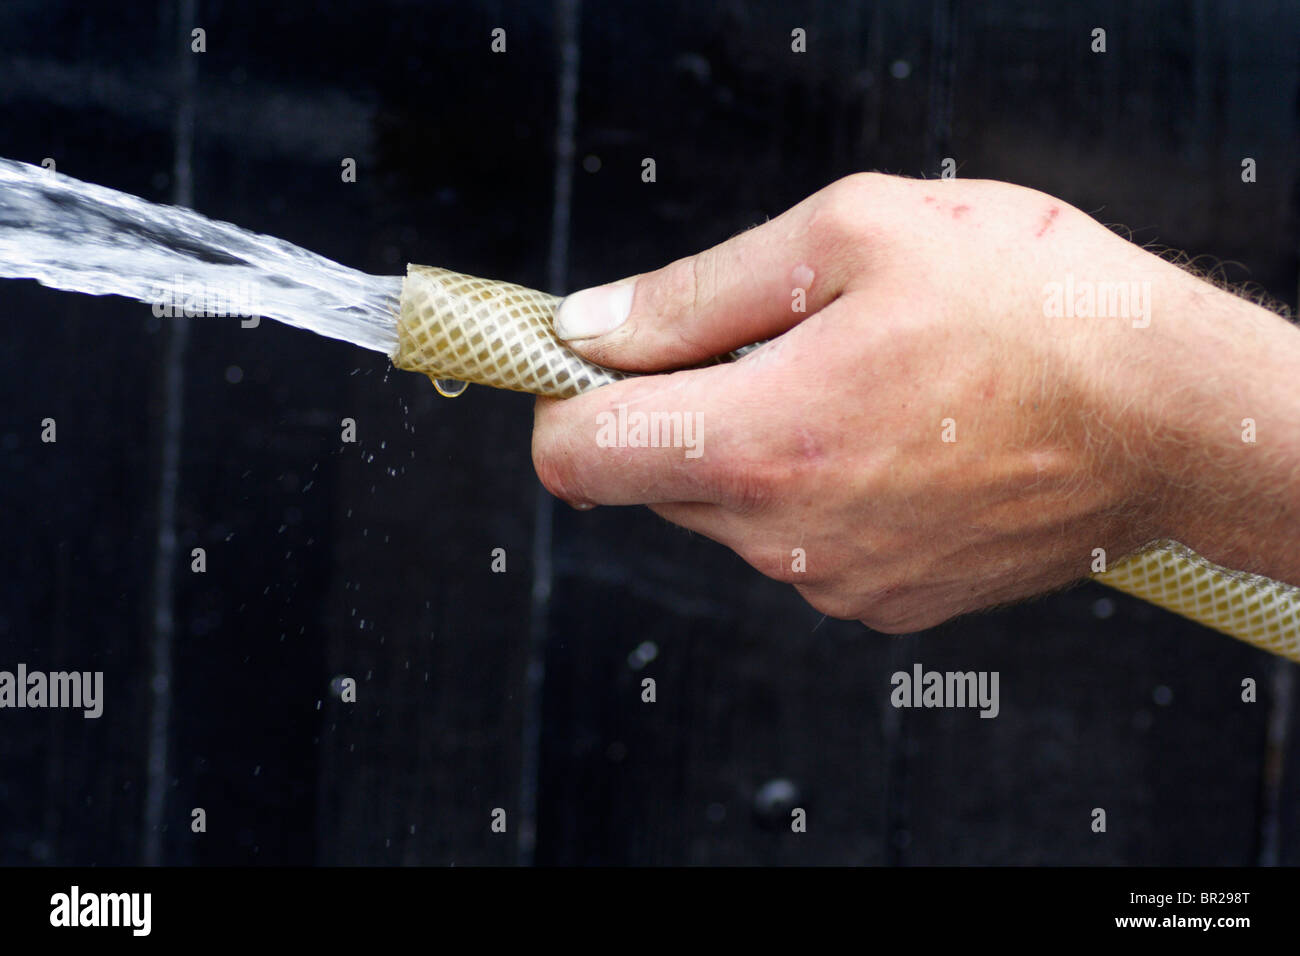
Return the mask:
<svg viewBox="0 0 1300 956">
<path fill-rule="evenodd" d="M 533 460 L 833 617 L 916 631 L 1158 537 L 1300 583 L 1300 332 L 1041 193 L 852 176 L 556 330 L 637 372 L 772 339 L 540 399 Z"/>
</svg>

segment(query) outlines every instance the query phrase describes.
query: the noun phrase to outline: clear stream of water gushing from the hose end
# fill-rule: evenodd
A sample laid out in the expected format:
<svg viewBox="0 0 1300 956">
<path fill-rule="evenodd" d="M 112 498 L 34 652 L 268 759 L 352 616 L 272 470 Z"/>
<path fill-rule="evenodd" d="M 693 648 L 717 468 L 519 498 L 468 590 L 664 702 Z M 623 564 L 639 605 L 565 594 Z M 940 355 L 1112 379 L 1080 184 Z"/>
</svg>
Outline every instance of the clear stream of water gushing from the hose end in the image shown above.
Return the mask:
<svg viewBox="0 0 1300 956">
<path fill-rule="evenodd" d="M 261 315 L 386 355 L 396 350 L 400 277 L 369 276 L 191 209 L 6 159 L 0 278 L 161 302 L 182 315 Z"/>
</svg>

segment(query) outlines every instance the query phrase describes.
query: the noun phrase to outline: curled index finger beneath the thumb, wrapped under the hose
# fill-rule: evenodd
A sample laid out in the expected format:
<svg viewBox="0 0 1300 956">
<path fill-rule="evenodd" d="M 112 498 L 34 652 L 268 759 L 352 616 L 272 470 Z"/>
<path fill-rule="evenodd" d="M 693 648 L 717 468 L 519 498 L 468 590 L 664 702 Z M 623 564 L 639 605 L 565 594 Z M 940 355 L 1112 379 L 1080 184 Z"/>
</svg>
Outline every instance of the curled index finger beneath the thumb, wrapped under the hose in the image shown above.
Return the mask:
<svg viewBox="0 0 1300 956">
<path fill-rule="evenodd" d="M 540 398 L 533 466 L 575 505 L 722 502 L 732 428 L 744 428 L 738 365 L 645 376 L 563 401 Z"/>
</svg>

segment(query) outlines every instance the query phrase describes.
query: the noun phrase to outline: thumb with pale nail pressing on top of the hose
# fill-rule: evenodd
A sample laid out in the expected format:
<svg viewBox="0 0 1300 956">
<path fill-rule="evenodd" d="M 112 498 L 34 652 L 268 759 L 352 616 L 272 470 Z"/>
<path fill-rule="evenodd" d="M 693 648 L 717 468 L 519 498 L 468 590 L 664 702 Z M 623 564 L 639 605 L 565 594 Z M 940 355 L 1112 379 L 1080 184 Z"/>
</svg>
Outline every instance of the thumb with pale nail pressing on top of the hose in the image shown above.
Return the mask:
<svg viewBox="0 0 1300 956">
<path fill-rule="evenodd" d="M 829 304 L 861 259 L 824 228 L 826 191 L 699 255 L 571 294 L 555 334 L 590 362 L 632 372 L 696 365 L 779 336 Z"/>
</svg>

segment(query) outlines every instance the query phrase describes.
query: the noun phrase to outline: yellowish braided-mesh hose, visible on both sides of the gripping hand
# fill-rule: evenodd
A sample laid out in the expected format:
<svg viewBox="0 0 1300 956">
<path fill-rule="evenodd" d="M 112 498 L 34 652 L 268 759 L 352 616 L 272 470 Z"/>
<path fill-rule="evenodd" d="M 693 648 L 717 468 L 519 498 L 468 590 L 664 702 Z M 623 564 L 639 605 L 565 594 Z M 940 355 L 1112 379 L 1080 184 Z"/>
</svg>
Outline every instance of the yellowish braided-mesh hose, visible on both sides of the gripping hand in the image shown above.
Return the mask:
<svg viewBox="0 0 1300 956">
<path fill-rule="evenodd" d="M 393 364 L 434 381 L 569 398 L 627 377 L 555 337 L 559 299 L 428 265 L 408 265 Z M 1156 541 L 1093 575 L 1175 614 L 1300 661 L 1300 588 L 1214 564 L 1176 541 Z"/>
</svg>

